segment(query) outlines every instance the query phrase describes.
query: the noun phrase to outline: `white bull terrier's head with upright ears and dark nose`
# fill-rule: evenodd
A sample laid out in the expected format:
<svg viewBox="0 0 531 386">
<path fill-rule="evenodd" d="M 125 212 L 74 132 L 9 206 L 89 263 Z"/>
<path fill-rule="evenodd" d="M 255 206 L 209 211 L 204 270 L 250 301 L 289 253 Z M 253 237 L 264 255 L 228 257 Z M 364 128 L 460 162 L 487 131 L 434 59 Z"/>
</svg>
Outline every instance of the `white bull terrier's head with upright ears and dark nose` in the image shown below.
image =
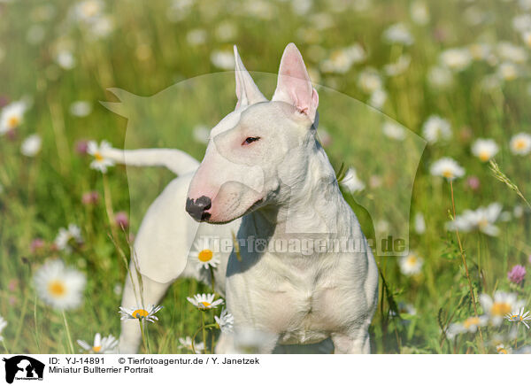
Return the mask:
<svg viewBox="0 0 531 386">
<path fill-rule="evenodd" d="M 271 101 L 250 77 L 236 48 L 235 63 L 235 111 L 212 128 L 186 203 L 194 219 L 211 223 L 289 200 L 289 189 L 282 186 L 304 183 L 309 149 L 315 147 L 319 97 L 295 44 L 284 50 Z"/>
</svg>

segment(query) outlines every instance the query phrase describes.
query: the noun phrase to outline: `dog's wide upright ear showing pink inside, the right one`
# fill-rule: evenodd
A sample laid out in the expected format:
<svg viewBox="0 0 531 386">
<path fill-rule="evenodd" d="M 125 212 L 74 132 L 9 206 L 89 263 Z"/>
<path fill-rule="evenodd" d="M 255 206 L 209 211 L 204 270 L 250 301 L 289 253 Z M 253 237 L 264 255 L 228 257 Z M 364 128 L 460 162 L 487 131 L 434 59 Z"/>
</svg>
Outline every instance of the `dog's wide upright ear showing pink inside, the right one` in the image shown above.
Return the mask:
<svg viewBox="0 0 531 386">
<path fill-rule="evenodd" d="M 282 54 L 277 88 L 272 100 L 292 104 L 299 112 L 306 114 L 312 123 L 315 120 L 319 96 L 312 87 L 302 55 L 292 42 Z"/>
</svg>

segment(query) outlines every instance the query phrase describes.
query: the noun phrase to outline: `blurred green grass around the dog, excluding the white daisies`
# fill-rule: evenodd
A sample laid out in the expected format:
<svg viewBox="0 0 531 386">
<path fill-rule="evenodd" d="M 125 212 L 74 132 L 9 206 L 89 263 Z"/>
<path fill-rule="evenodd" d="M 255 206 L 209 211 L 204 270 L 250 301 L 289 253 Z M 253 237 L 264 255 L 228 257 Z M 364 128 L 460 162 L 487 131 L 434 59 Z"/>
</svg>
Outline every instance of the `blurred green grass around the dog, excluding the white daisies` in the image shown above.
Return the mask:
<svg viewBox="0 0 531 386">
<path fill-rule="evenodd" d="M 472 301 L 481 293 L 511 291 L 527 305 L 531 299 L 528 280 L 521 285 L 507 280 L 512 266 L 529 268 L 531 254 L 531 214 L 524 202 L 531 200 L 530 156 L 514 155 L 509 148 L 512 135 L 531 133 L 528 60 L 518 64 L 517 79 L 494 87 L 485 86 L 485 79 L 497 71 L 487 60 L 474 61 L 464 71 L 453 73 L 453 85 L 448 88 L 435 88 L 427 78 L 438 65 L 440 53 L 452 47 L 474 42 L 496 47 L 499 42 L 512 42 L 528 55 L 512 28 L 512 18 L 522 11 L 516 2 L 486 0 L 480 7 L 432 0 L 426 2 L 429 23 L 419 25 L 412 22 L 411 4 L 404 0 L 373 1 L 365 10 L 341 12 L 333 11 L 335 3 L 316 1 L 308 14 L 299 15 L 288 2 L 205 1 L 193 2 L 190 8 L 176 8 L 169 1 L 109 2 L 104 14 L 112 18 L 114 27 L 100 38 L 82 22 L 65 21 L 72 2 L 0 4 L 4 20 L 0 26 L 4 52 L 0 55 L 4 57 L 0 60 L 0 94 L 7 100 L 32 100 L 14 138 L 0 137 L 0 184 L 4 188 L 0 193 L 0 315 L 9 323 L 3 332 L 6 351 L 69 352 L 68 330 L 73 345 L 76 339 L 91 341 L 96 332 L 119 335 L 120 293 L 115 287 L 124 281 L 127 268 L 110 235 L 119 248 L 128 251 L 128 232 L 115 227 L 108 212 L 130 212 L 130 231 L 135 233 L 147 206 L 173 177 L 164 170 L 123 166 L 111 168 L 103 177 L 89 168 L 90 157 L 75 151 L 76 142 L 105 139 L 117 147 L 168 146 L 201 159 L 204 144 L 194 140 L 194 127 L 212 127 L 235 104 L 234 75 L 219 73 L 223 69 L 212 63 L 212 51 L 231 50 L 235 42 L 245 66 L 264 72 L 253 73 L 253 77 L 264 94 L 271 96 L 275 84 L 271 73 L 277 71 L 285 45 L 293 41 L 312 75 L 318 76 L 314 81 L 323 85 L 319 126 L 332 138 L 327 145 L 331 162 L 336 170 L 343 163 L 356 167 L 366 181 L 364 192 L 346 195 L 364 232 L 369 237 L 382 235 L 381 220 L 386 220 L 389 232 L 408 239 L 412 251 L 424 259 L 419 274 L 405 276 L 396 257 L 377 257 L 381 302 L 371 327 L 373 351 L 496 352 L 494 337 L 506 331 L 508 323 L 481 331 L 484 346 L 479 334 L 449 340 L 443 330 L 473 316 L 475 307 L 481 314 L 481 305 Z M 259 4 L 260 11 L 253 12 Z M 266 19 L 268 12 L 271 19 Z M 474 13 L 484 21 L 471 23 Z M 333 26 L 318 30 L 315 14 L 328 15 Z M 411 46 L 382 42 L 382 31 L 398 21 L 410 29 L 415 40 Z M 227 25 L 235 34 L 225 40 L 219 30 Z M 39 42 L 31 37 L 39 35 L 35 26 L 43 34 Z M 196 29 L 204 31 L 204 43 L 190 43 L 189 31 Z M 332 50 L 354 42 L 368 52 L 365 62 L 346 73 L 319 71 L 319 63 Z M 72 69 L 58 66 L 61 50 L 72 52 Z M 388 93 L 382 113 L 368 107 L 370 96 L 358 85 L 359 73 L 368 66 L 382 73 L 384 65 L 404 53 L 412 58 L 409 68 L 397 76 L 382 75 Z M 128 93 L 109 92 L 108 88 Z M 93 108 L 88 116 L 69 112 L 77 100 L 90 102 Z M 98 101 L 121 101 L 109 106 L 119 114 Z M 448 120 L 453 135 L 450 141 L 425 146 L 417 135 L 432 114 Z M 409 129 L 404 142 L 381 135 L 380 127 L 388 120 Z M 35 158 L 24 157 L 20 143 L 34 133 L 42 136 L 42 151 Z M 492 166 L 494 174 L 488 163 L 471 154 L 471 144 L 481 137 L 493 138 L 500 146 Z M 432 176 L 429 167 L 442 157 L 457 159 L 466 176 L 452 185 Z M 373 175 L 383 181 L 381 189 L 368 186 Z M 479 189 L 470 187 L 469 176 L 479 179 Z M 83 205 L 81 197 L 90 190 L 99 192 L 100 199 L 95 205 Z M 444 224 L 456 214 L 492 202 L 511 213 L 522 206 L 523 215 L 498 223 L 501 231 L 496 237 L 473 231 L 458 238 L 445 229 Z M 421 235 L 413 230 L 417 212 L 423 213 L 427 224 Z M 71 254 L 54 251 L 50 245 L 58 228 L 69 223 L 80 226 L 84 243 Z M 30 245 L 37 237 L 46 245 L 33 252 Z M 83 304 L 65 313 L 68 329 L 63 314 L 39 300 L 31 280 L 35 269 L 54 257 L 88 278 Z M 186 280 L 172 286 L 159 322 L 150 325 L 151 352 L 186 352 L 178 348 L 177 338 L 192 336 L 202 323 L 201 314 L 186 297 L 204 290 L 208 289 Z M 411 304 L 416 313 L 399 313 L 401 303 Z M 512 348 L 529 343 L 523 326 L 515 342 L 505 342 Z"/>
</svg>

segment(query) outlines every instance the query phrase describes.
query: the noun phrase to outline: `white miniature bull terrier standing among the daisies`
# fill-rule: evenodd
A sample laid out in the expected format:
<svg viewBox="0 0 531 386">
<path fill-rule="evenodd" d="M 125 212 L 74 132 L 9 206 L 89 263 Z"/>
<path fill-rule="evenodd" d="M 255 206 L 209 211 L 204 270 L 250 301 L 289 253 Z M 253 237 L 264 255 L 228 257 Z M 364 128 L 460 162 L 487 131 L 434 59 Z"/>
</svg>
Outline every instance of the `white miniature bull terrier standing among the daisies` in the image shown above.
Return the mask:
<svg viewBox="0 0 531 386">
<path fill-rule="evenodd" d="M 214 275 L 216 290 L 234 315 L 235 331 L 266 332 L 261 352 L 327 338 L 336 353 L 369 352 L 378 269 L 316 139 L 319 97 L 303 58 L 295 44 L 286 47 L 271 101 L 236 49 L 235 63 L 235 111 L 212 128 L 201 164 L 176 150 L 104 154 L 127 165 L 166 166 L 179 174 L 150 206 L 135 240 L 142 304 L 157 304 L 179 276 L 209 282 L 187 259 L 190 247 L 204 236 L 231 241 L 235 236 L 247 244 L 239 253 L 220 251 Z M 338 240 L 349 240 L 355 248 L 338 250 Z M 323 241 L 335 248 L 318 247 Z M 303 245 L 312 248 L 301 251 Z M 141 301 L 132 277 L 134 283 L 127 277 L 124 289 L 125 307 Z M 136 320 L 124 320 L 119 351 L 135 352 L 140 340 Z M 221 333 L 216 351 L 232 351 L 233 341 L 234 335 Z"/>
</svg>

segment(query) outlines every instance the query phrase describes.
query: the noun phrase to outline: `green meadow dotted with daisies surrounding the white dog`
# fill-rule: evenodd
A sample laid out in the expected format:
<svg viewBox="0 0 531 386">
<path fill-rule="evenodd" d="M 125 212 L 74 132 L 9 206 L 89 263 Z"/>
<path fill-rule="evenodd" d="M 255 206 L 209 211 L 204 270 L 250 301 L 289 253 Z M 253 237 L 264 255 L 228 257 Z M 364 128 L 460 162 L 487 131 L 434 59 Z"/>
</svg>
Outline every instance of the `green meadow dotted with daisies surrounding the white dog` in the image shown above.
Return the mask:
<svg viewBox="0 0 531 386">
<path fill-rule="evenodd" d="M 372 351 L 531 351 L 531 1 L 11 0 L 0 2 L 0 352 L 119 336 L 135 232 L 173 174 L 102 173 L 88 142 L 202 159 L 205 130 L 235 107 L 233 44 L 271 97 L 289 42 L 365 234 L 410 251 L 374 250 Z M 70 224 L 79 235 L 58 238 Z M 86 278 L 65 312 L 35 279 L 54 259 Z M 210 290 L 175 282 L 141 352 L 191 352 L 179 338 L 202 314 L 187 297 Z"/>
</svg>

